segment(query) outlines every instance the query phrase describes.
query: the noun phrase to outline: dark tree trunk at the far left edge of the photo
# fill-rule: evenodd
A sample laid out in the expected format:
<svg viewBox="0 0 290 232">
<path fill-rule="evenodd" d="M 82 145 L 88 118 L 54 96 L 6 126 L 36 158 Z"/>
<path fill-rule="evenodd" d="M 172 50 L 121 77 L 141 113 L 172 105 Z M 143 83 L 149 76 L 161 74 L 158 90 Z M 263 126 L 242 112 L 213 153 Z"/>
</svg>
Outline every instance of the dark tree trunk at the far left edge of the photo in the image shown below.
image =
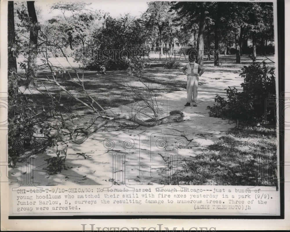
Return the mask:
<svg viewBox="0 0 290 232">
<path fill-rule="evenodd" d="M 15 27 L 14 27 L 14 2 L 8 1 L 8 73 L 17 72 L 16 56 L 14 52 L 16 49 L 15 41 Z M 11 51 L 12 50 L 12 51 Z"/>
</svg>

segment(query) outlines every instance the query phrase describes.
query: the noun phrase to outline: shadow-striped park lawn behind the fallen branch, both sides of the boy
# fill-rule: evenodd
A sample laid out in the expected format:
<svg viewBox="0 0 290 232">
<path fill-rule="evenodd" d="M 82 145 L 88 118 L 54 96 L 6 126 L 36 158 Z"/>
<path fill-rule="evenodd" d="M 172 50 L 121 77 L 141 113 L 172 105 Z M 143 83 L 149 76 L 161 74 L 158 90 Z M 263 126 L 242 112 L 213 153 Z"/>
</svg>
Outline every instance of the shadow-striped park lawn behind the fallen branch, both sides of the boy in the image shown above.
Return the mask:
<svg viewBox="0 0 290 232">
<path fill-rule="evenodd" d="M 262 60 L 259 57 L 258 60 Z M 178 90 L 186 91 L 186 76 L 182 74 L 178 69 L 164 69 L 162 65 L 165 60 L 151 62 L 151 68 L 143 70 L 141 81 L 146 85 L 150 85 L 150 90 L 142 84 L 138 78 L 128 76 L 126 70 L 112 70 L 106 71 L 106 75 L 99 74 L 96 71 L 79 71 L 79 76 L 82 78 L 84 74 L 84 86 L 86 91 L 104 108 L 115 108 L 122 104 L 122 101 L 128 102 L 136 98 L 136 92 L 141 93 L 143 96 L 160 96 L 169 92 Z M 180 61 L 181 65 L 185 65 L 184 60 Z M 235 64 L 235 56 L 220 56 L 219 67 L 213 66 L 213 61 L 205 61 L 204 67 L 206 72 L 200 78 L 199 85 L 203 85 L 209 82 L 223 81 L 223 78 L 229 77 L 232 74 L 238 76 L 241 72 L 243 65 L 249 65 L 251 60 L 247 56 L 242 56 L 241 64 Z M 73 80 L 76 79 L 76 75 L 73 71 L 70 71 L 70 76 Z M 70 90 L 76 97 L 83 101 L 91 101 L 82 90 L 81 86 L 74 83 L 70 78 L 68 72 L 66 74 L 57 77 L 59 83 Z M 74 113 L 90 114 L 90 110 L 76 101 L 68 97 L 68 94 L 60 90 L 57 85 L 52 82 L 44 80 L 45 78 L 52 78 L 50 72 L 38 72 L 38 78 L 43 78 L 43 83 L 39 85 L 38 89 L 46 93 L 46 89 L 49 90 L 54 97 L 63 103 L 66 107 L 70 108 Z M 243 82 L 241 78 L 241 83 Z M 225 86 L 226 88 L 227 86 Z M 48 103 L 50 98 L 47 95 L 41 96 L 37 94 L 34 96 L 35 100 L 41 104 L 41 102 Z M 32 97 L 32 96 L 31 96 Z M 32 97 L 33 98 L 33 97 Z"/>
</svg>

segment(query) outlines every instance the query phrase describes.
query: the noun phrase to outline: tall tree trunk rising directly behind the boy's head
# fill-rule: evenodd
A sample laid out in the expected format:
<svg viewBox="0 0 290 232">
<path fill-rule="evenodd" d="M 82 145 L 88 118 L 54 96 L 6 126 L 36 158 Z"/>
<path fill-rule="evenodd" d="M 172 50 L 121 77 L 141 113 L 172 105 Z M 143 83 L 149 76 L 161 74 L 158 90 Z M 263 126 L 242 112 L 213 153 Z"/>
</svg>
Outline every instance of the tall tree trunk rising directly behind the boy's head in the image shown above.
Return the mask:
<svg viewBox="0 0 290 232">
<path fill-rule="evenodd" d="M 198 36 L 197 36 L 198 63 L 201 66 L 203 66 L 205 8 L 206 8 L 206 2 L 201 2 L 200 3 L 200 23 L 199 23 L 199 30 L 198 30 Z"/>
</svg>

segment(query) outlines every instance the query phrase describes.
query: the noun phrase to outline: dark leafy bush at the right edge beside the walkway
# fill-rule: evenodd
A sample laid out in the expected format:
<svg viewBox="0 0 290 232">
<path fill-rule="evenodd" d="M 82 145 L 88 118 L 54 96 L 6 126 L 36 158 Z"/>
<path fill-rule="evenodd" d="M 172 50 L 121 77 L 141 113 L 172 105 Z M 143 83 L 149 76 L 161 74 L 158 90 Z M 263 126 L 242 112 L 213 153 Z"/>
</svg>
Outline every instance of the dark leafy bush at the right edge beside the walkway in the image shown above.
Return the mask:
<svg viewBox="0 0 290 232">
<path fill-rule="evenodd" d="M 269 68 L 265 61 L 262 64 L 244 66 L 240 74 L 244 78 L 244 83 L 241 84 L 243 91 L 238 92 L 236 88 L 229 87 L 225 89 L 226 98 L 217 94 L 217 104 L 207 107 L 210 110 L 209 115 L 232 120 L 264 122 L 267 113 L 267 119 L 274 120 L 275 109 L 266 109 L 265 103 L 269 94 L 276 93 L 275 70 Z"/>
</svg>

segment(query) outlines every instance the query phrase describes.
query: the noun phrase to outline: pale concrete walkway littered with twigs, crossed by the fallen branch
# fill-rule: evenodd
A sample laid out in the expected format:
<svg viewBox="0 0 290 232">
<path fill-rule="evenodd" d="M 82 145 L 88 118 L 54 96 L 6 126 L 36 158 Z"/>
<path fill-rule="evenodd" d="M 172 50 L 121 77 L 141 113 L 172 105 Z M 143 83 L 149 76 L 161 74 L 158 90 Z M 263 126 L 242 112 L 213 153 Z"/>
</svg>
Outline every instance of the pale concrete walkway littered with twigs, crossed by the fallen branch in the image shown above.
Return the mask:
<svg viewBox="0 0 290 232">
<path fill-rule="evenodd" d="M 157 98 L 161 115 L 182 110 L 187 119 L 120 131 L 99 130 L 83 144 L 70 144 L 66 158 L 70 168 L 61 174 L 50 176 L 43 170 L 47 166 L 45 159 L 55 154 L 34 156 L 30 163 L 34 185 L 176 183 L 174 173 L 182 168 L 182 161 L 193 160 L 207 145 L 235 127 L 234 122 L 209 117 L 206 107 L 213 106 L 216 94 L 225 94 L 224 88 L 240 89 L 240 83 L 242 78 L 229 72 L 216 82 L 199 86 L 197 107 L 184 107 L 186 90 Z M 115 114 L 135 114 L 134 104 L 140 106 L 140 102 L 134 102 L 110 110 Z M 18 175 L 17 169 L 9 172 L 11 177 Z"/>
</svg>

